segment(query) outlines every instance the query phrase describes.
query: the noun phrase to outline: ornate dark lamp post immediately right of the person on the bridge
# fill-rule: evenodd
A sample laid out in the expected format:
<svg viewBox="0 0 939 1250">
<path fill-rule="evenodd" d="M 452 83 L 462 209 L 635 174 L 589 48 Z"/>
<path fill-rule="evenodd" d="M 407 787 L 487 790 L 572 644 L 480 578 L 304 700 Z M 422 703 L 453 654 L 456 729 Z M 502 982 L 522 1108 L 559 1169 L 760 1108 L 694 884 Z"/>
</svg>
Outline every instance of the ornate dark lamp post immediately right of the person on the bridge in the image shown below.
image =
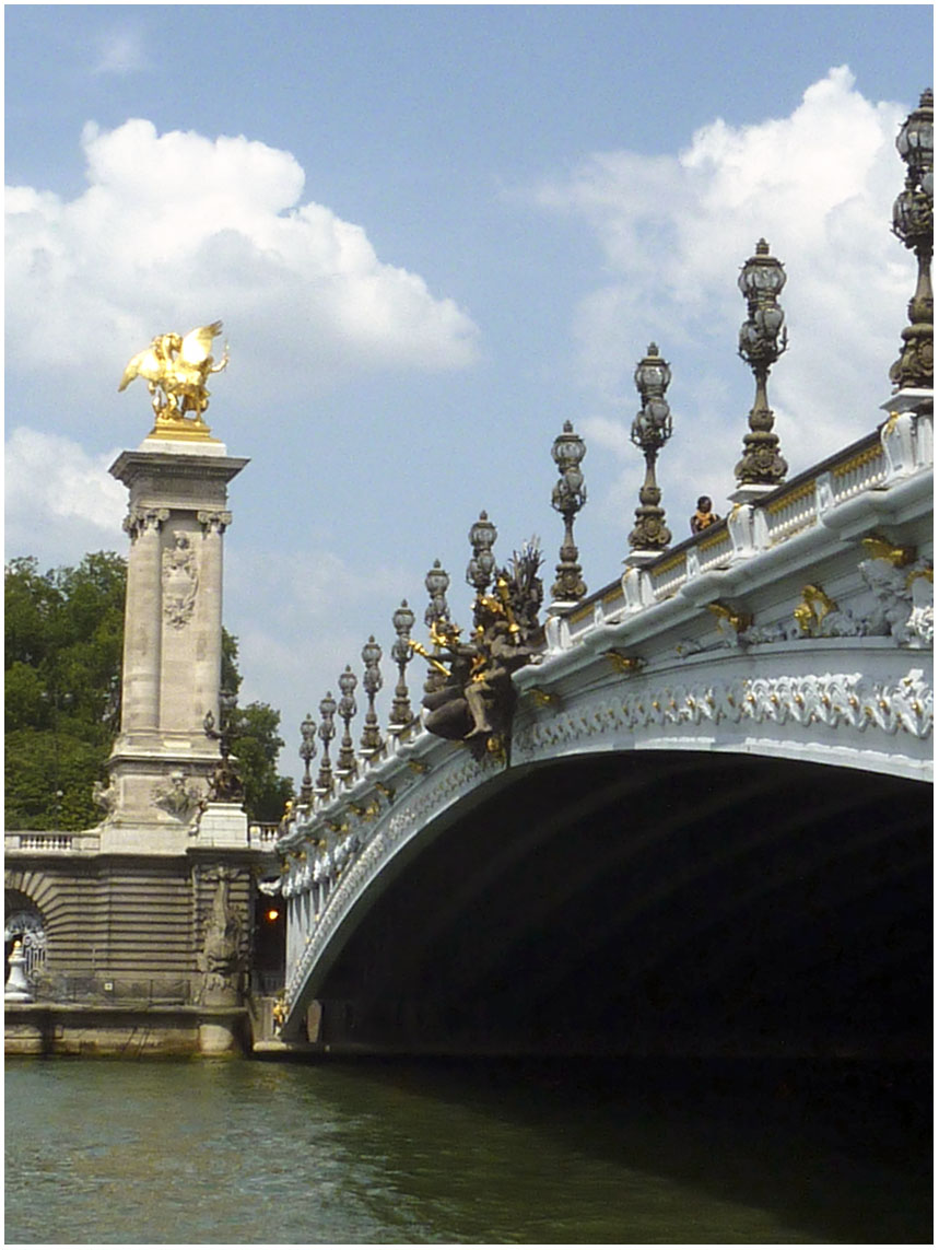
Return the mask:
<svg viewBox="0 0 939 1250">
<path fill-rule="evenodd" d="M 750 432 L 743 436 L 743 458 L 734 470 L 740 489 L 732 496 L 745 502 L 747 498 L 778 486 L 789 471 L 779 455 L 779 438 L 773 434 L 773 410 L 767 399 L 769 370 L 785 351 L 788 339 L 783 310 L 777 302 L 785 286 L 785 274 L 775 256 L 769 255 L 765 239 L 757 244 L 755 255 L 740 270 L 737 285 L 747 300 L 747 320 L 740 326 L 738 351 L 757 379 Z"/>
</svg>

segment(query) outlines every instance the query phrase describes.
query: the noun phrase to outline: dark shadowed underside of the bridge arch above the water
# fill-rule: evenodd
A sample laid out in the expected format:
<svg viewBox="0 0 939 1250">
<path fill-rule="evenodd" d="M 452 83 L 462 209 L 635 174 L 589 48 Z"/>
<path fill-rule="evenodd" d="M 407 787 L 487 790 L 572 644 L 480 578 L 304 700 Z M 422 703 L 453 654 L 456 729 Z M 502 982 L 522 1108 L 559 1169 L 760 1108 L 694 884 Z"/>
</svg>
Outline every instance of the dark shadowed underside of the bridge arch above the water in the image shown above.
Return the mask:
<svg viewBox="0 0 939 1250">
<path fill-rule="evenodd" d="M 932 788 L 684 751 L 519 770 L 316 986 L 336 1049 L 899 1054 L 932 1035 Z"/>
</svg>

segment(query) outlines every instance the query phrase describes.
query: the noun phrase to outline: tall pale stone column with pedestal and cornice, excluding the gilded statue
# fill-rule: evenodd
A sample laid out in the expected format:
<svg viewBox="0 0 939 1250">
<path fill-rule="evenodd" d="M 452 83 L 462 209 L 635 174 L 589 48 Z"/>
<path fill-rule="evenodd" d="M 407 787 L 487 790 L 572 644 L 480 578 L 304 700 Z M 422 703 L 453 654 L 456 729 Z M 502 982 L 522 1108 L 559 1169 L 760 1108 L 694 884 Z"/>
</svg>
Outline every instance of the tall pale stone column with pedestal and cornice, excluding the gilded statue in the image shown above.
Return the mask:
<svg viewBox="0 0 939 1250">
<path fill-rule="evenodd" d="M 227 484 L 246 464 L 215 439 L 149 436 L 111 466 L 130 491 L 131 550 L 102 850 L 192 846 L 190 826 L 221 759 L 205 719 L 219 725 Z"/>
</svg>

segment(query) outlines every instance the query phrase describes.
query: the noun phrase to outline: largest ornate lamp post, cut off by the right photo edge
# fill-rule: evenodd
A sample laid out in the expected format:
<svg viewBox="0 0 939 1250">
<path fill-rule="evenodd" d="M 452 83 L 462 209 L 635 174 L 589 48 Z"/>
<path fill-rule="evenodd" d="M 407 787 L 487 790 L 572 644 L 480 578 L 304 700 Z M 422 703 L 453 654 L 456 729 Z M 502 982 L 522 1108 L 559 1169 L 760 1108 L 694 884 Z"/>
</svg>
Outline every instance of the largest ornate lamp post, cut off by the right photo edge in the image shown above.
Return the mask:
<svg viewBox="0 0 939 1250">
<path fill-rule="evenodd" d="M 897 136 L 907 164 L 907 184 L 893 206 L 893 232 L 917 255 L 917 290 L 909 301 L 910 324 L 902 331 L 903 349 L 890 366 L 897 390 L 933 389 L 933 92 L 907 118 Z"/>
</svg>

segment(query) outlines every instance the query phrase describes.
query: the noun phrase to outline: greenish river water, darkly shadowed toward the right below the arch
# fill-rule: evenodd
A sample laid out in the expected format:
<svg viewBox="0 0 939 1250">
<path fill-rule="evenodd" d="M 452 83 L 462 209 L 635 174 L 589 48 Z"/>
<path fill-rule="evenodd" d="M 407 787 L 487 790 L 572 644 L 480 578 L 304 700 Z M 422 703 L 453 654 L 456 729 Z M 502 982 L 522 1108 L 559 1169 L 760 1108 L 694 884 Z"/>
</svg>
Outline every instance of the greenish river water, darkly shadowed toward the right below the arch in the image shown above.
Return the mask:
<svg viewBox="0 0 939 1250">
<path fill-rule="evenodd" d="M 6 1244 L 932 1241 L 929 1070 L 11 1060 Z"/>
</svg>

